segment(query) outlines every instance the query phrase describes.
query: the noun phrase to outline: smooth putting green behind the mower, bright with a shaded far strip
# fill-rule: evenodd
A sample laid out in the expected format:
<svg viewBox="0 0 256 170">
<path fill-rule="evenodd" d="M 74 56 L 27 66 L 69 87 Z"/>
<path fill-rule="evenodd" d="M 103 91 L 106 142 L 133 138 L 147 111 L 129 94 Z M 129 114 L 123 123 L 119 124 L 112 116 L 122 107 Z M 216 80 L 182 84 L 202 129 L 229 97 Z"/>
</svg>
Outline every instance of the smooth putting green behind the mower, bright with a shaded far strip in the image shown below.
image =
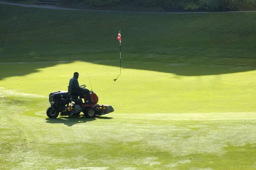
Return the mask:
<svg viewBox="0 0 256 170">
<path fill-rule="evenodd" d="M 238 73 L 181 76 L 149 70 L 106 66 L 118 62 L 98 60 L 99 64 L 76 61 L 54 63 L 47 67 L 42 63 L 0 64 L 1 77 L 7 74 L 22 74 L 4 78 L 0 87 L 17 92 L 33 93 L 47 97 L 50 92 L 67 90 L 74 71 L 80 73 L 80 85 L 99 96 L 99 103 L 111 104 L 116 113 L 213 113 L 213 112 L 254 112 L 256 91 L 256 71 Z M 100 65 L 100 64 L 105 65 Z M 123 62 L 126 65 L 140 65 L 142 68 L 180 69 L 189 72 L 211 72 L 211 70 L 239 70 L 237 67 L 170 65 L 156 62 Z M 42 67 L 42 68 L 40 68 Z M 6 69 L 8 68 L 8 70 Z M 17 69 L 18 68 L 18 69 Z M 35 70 L 32 70 L 37 68 Z M 242 70 L 241 70 L 242 71 Z M 91 79 L 91 85 L 87 74 Z M 47 102 L 47 100 L 45 100 Z M 44 108 L 45 109 L 45 108 Z"/>
</svg>

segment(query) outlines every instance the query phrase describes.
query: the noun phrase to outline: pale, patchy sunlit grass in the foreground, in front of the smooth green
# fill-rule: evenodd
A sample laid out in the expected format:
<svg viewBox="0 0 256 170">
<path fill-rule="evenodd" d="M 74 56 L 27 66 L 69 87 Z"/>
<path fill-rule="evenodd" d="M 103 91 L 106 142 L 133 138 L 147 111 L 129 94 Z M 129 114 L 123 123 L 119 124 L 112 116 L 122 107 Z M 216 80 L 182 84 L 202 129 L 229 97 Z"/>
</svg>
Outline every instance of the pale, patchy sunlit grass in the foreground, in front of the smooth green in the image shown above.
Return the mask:
<svg viewBox="0 0 256 170">
<path fill-rule="evenodd" d="M 16 111 L 0 116 L 2 169 L 253 170 L 256 166 L 255 113 L 113 113 L 95 119 L 48 119 L 43 110 L 15 106 L 10 109 Z"/>
</svg>

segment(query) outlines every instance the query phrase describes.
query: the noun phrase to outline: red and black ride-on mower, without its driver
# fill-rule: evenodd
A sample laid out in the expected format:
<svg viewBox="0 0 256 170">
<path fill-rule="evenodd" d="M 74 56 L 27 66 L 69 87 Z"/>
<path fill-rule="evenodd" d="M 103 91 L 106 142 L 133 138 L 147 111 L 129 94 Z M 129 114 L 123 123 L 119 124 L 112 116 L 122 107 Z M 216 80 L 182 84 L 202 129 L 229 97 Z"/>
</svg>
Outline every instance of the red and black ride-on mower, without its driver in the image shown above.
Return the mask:
<svg viewBox="0 0 256 170">
<path fill-rule="evenodd" d="M 85 85 L 81 85 L 83 87 Z M 59 113 L 61 116 L 79 116 L 81 112 L 87 118 L 94 118 L 95 115 L 105 115 L 113 112 L 114 109 L 110 105 L 97 104 L 98 96 L 90 91 L 91 104 L 86 104 L 86 95 L 82 99 L 78 96 L 70 95 L 67 91 L 55 91 L 49 94 L 49 102 L 51 106 L 46 113 L 49 118 L 57 118 Z"/>
</svg>

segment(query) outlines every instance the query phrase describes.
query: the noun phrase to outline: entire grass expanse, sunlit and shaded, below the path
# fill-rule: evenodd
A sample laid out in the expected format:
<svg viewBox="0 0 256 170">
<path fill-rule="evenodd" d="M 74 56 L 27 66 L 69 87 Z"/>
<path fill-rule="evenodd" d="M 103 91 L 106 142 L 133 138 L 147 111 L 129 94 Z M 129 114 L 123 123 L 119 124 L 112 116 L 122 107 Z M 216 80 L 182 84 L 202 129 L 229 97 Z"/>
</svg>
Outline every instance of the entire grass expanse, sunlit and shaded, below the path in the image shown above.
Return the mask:
<svg viewBox="0 0 256 170">
<path fill-rule="evenodd" d="M 1 170 L 256 169 L 256 14 L 0 9 Z M 49 119 L 74 71 L 115 111 Z"/>
</svg>

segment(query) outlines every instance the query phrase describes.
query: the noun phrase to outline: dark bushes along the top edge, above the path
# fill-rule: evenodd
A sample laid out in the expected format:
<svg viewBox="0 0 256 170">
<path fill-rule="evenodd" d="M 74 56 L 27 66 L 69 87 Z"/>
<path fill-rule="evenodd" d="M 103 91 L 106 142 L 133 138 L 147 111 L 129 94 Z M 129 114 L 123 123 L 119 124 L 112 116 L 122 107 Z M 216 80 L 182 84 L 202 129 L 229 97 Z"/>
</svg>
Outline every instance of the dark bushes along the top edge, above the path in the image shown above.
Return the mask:
<svg viewBox="0 0 256 170">
<path fill-rule="evenodd" d="M 63 4 L 81 7 L 131 7 L 159 11 L 238 11 L 255 10 L 256 0 L 62 0 Z"/>
</svg>

